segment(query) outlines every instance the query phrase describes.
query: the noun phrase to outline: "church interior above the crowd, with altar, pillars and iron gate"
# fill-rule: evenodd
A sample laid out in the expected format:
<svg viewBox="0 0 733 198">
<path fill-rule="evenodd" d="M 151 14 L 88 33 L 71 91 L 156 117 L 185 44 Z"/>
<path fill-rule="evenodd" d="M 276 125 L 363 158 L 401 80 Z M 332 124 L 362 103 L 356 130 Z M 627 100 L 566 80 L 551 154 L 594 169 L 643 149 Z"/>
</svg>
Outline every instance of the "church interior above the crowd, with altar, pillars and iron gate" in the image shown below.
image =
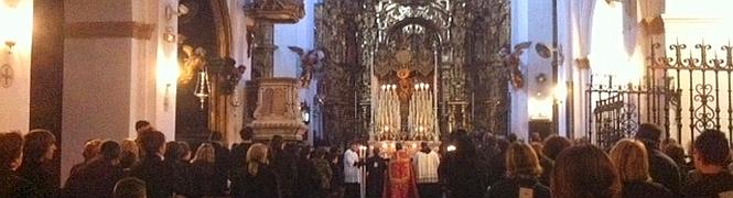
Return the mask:
<svg viewBox="0 0 733 198">
<path fill-rule="evenodd" d="M 191 145 L 439 145 L 456 131 L 602 148 L 643 123 L 733 138 L 729 0 L 2 0 L 0 132 L 150 122 Z"/>
</svg>

